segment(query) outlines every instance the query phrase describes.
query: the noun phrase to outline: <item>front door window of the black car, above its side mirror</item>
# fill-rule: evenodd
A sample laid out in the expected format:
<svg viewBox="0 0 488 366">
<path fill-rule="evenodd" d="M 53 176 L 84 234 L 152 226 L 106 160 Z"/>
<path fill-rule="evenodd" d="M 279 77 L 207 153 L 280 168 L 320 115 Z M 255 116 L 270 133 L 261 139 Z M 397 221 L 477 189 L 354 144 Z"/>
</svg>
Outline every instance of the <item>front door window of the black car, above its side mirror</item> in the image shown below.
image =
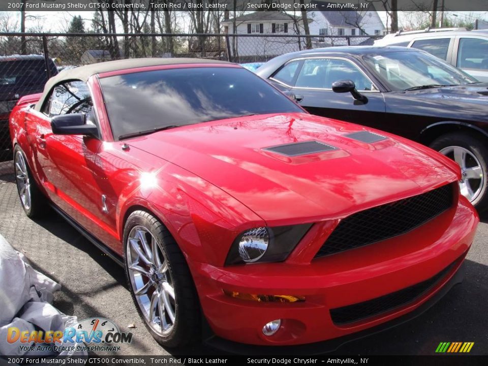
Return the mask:
<svg viewBox="0 0 488 366">
<path fill-rule="evenodd" d="M 376 90 L 355 65 L 334 58 L 306 60 L 296 80 L 296 86 L 332 89 L 332 83 L 339 80 L 354 81 L 357 90 Z"/>
</svg>

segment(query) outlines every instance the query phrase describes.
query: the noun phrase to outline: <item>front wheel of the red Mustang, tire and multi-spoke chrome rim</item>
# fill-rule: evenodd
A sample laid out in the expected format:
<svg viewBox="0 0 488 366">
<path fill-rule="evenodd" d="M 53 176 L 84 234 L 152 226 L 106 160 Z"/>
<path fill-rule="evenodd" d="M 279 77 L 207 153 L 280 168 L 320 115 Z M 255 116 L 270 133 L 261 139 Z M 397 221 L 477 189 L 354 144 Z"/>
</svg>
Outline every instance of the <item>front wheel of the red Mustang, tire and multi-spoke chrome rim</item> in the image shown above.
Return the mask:
<svg viewBox="0 0 488 366">
<path fill-rule="evenodd" d="M 166 347 L 194 342 L 200 305 L 190 270 L 176 241 L 148 212 L 137 210 L 124 228 L 126 277 L 139 316 Z"/>
</svg>

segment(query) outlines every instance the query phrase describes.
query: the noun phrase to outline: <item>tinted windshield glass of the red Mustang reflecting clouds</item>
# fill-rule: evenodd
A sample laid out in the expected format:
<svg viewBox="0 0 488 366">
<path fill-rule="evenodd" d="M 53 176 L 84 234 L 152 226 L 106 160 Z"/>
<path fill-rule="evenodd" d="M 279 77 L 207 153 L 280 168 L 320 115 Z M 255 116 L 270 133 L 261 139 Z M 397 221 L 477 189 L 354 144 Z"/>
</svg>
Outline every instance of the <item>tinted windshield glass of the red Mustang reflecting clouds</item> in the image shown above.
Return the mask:
<svg viewBox="0 0 488 366">
<path fill-rule="evenodd" d="M 100 79 L 115 139 L 252 114 L 302 112 L 252 72 L 203 67 Z"/>
</svg>

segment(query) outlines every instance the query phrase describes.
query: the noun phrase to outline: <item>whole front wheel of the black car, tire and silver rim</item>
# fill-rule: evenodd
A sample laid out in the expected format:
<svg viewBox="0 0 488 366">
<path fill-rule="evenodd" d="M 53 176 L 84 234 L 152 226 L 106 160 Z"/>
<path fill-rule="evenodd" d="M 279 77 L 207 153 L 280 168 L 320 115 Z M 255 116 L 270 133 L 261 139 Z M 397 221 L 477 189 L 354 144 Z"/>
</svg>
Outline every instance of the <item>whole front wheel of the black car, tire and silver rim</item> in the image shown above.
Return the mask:
<svg viewBox="0 0 488 366">
<path fill-rule="evenodd" d="M 477 138 L 468 134 L 447 134 L 430 145 L 461 167 L 461 194 L 476 206 L 479 212 L 488 208 L 488 150 Z"/>
</svg>

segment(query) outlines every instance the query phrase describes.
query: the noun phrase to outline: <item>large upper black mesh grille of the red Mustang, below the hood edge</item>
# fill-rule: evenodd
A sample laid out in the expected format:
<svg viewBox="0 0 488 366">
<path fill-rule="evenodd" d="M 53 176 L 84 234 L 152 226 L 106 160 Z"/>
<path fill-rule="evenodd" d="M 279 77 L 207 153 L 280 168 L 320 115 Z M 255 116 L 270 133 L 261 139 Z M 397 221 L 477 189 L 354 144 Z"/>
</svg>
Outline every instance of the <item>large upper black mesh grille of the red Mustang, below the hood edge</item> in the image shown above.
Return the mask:
<svg viewBox="0 0 488 366">
<path fill-rule="evenodd" d="M 426 223 L 451 207 L 452 186 L 373 207 L 341 220 L 315 257 L 385 240 Z"/>
</svg>

